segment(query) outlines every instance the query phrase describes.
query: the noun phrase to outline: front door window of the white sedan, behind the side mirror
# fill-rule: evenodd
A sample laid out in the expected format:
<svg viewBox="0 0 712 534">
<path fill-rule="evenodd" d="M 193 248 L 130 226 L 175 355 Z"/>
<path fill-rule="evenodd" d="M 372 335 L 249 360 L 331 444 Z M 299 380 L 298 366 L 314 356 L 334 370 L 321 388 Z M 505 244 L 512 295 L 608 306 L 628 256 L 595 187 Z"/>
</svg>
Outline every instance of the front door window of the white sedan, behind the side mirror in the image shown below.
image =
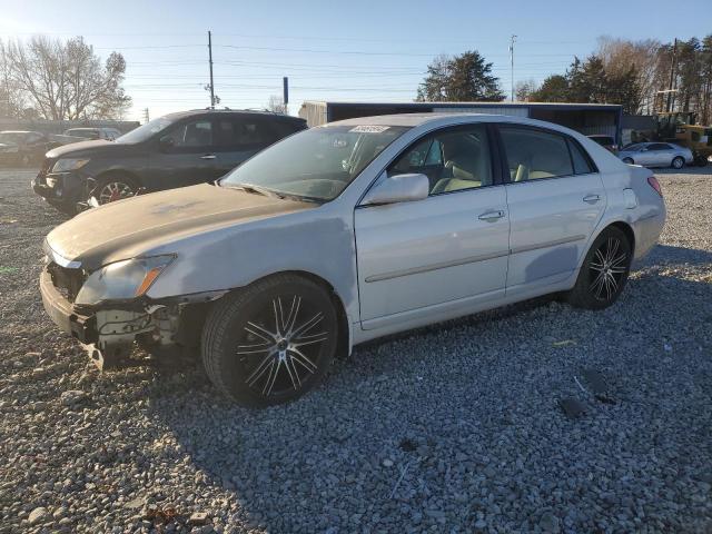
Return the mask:
<svg viewBox="0 0 712 534">
<path fill-rule="evenodd" d="M 432 134 L 406 149 L 387 172 L 427 176 L 431 195 L 491 186 L 487 129 L 485 125 L 473 125 Z"/>
</svg>

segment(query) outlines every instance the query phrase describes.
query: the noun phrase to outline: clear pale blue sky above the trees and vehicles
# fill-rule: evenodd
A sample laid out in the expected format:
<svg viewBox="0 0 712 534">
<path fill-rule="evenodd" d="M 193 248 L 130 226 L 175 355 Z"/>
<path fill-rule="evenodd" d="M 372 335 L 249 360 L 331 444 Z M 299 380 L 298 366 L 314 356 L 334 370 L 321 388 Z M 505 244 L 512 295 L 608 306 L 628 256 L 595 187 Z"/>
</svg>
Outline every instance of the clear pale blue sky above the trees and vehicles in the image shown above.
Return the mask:
<svg viewBox="0 0 712 534">
<path fill-rule="evenodd" d="M 207 32 L 219 107 L 265 108 L 289 78 L 289 112 L 305 100 L 411 101 L 437 55 L 479 51 L 508 95 L 541 82 L 601 36 L 661 41 L 712 33 L 710 0 L 134 1 L 0 0 L 0 39 L 82 36 L 127 61 L 126 118 L 209 106 Z M 684 13 L 680 13 L 684 11 Z M 674 22 L 676 20 L 676 22 Z M 672 22 L 672 23 L 671 23 Z"/>
</svg>

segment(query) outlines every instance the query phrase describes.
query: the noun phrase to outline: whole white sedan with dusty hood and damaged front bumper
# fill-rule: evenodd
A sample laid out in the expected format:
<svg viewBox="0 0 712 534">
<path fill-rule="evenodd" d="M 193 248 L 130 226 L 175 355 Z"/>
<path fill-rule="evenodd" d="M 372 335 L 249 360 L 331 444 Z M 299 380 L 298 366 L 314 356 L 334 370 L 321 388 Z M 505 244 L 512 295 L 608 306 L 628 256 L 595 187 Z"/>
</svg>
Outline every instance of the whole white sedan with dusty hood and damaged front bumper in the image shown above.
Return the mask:
<svg viewBox="0 0 712 534">
<path fill-rule="evenodd" d="M 664 220 L 650 170 L 567 128 L 370 117 L 81 214 L 47 237 L 40 287 L 98 363 L 199 347 L 224 394 L 264 406 L 386 334 L 550 293 L 610 306 Z"/>
</svg>

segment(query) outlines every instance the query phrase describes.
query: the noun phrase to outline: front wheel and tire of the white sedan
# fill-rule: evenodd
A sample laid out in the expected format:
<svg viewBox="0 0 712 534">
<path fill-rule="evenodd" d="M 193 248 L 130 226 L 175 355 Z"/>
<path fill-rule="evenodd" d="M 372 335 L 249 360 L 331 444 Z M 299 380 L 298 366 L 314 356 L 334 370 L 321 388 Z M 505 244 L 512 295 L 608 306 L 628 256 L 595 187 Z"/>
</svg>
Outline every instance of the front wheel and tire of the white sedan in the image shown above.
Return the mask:
<svg viewBox="0 0 712 534">
<path fill-rule="evenodd" d="M 202 332 L 210 380 L 244 406 L 294 400 L 326 376 L 337 349 L 329 293 L 295 275 L 257 281 L 225 297 Z"/>
</svg>

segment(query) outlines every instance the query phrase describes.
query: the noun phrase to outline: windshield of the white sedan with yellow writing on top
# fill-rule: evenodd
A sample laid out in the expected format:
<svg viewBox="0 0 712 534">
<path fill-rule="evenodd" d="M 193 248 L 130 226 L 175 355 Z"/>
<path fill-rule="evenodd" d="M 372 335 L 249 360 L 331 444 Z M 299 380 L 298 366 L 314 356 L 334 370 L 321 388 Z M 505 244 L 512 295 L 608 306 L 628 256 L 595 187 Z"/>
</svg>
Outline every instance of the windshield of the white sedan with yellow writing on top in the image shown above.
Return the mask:
<svg viewBox="0 0 712 534">
<path fill-rule="evenodd" d="M 408 128 L 327 126 L 296 134 L 233 170 L 220 186 L 257 186 L 328 201 Z"/>
</svg>

